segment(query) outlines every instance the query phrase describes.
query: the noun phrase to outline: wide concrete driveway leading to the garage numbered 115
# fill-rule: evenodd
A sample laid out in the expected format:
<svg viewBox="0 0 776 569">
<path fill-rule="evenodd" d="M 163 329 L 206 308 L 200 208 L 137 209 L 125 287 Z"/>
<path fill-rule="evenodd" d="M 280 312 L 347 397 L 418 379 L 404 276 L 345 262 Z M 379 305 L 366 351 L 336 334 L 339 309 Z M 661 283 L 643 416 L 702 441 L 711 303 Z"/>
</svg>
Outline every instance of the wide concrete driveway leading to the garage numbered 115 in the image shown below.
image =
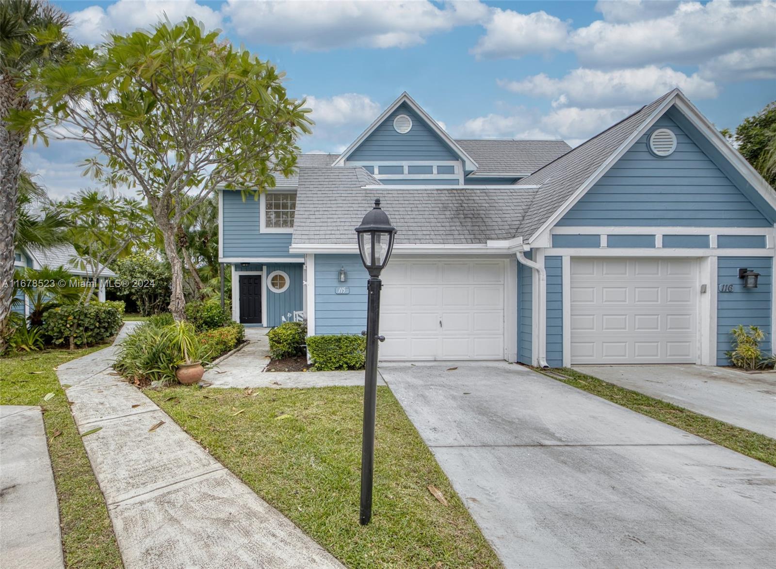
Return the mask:
<svg viewBox="0 0 776 569">
<path fill-rule="evenodd" d="M 773 566 L 776 468 L 516 364 L 380 373 L 506 567 Z"/>
</svg>

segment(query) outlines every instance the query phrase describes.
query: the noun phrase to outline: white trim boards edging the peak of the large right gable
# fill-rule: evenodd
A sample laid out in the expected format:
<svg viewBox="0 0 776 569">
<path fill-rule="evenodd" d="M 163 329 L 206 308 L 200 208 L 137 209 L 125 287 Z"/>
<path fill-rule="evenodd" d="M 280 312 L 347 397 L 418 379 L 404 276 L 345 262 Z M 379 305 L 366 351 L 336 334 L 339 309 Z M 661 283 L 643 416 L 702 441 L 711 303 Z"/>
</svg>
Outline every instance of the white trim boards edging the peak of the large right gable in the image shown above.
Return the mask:
<svg viewBox="0 0 776 569">
<path fill-rule="evenodd" d="M 579 202 L 582 196 L 584 196 L 587 191 L 589 191 L 590 188 L 592 188 L 594 184 L 596 184 L 596 182 L 598 182 L 598 180 L 600 180 L 601 177 L 606 174 L 612 165 L 614 165 L 620 158 L 622 158 L 622 155 L 630 150 L 633 144 L 636 143 L 636 141 L 639 140 L 639 138 L 641 138 L 641 136 L 643 136 L 647 131 L 649 131 L 657 119 L 663 116 L 663 114 L 665 114 L 665 112 L 667 112 L 667 110 L 672 106 L 676 106 L 676 108 L 682 112 L 682 114 L 686 116 L 690 122 L 692 122 L 693 126 L 695 126 L 700 133 L 706 136 L 706 138 L 717 148 L 717 150 L 719 150 L 722 155 L 726 157 L 726 159 L 729 160 L 731 164 L 733 164 L 733 167 L 735 167 L 736 170 L 738 170 L 740 174 L 742 174 L 743 177 L 750 184 L 752 184 L 753 188 L 760 195 L 762 195 L 762 197 L 771 205 L 771 207 L 776 209 L 776 195 L 774 195 L 774 191 L 767 183 L 767 181 L 765 181 L 762 176 L 760 176 L 760 174 L 757 174 L 757 171 L 755 171 L 754 168 L 751 167 L 749 163 L 747 163 L 747 160 L 745 160 L 740 155 L 740 153 L 738 153 L 738 151 L 730 146 L 725 138 L 719 134 L 719 132 L 717 132 L 711 123 L 709 123 L 708 120 L 702 116 L 698 109 L 692 105 L 688 98 L 684 96 L 684 93 L 676 88 L 674 91 L 671 91 L 670 95 L 666 97 L 666 100 L 660 103 L 660 105 L 658 105 L 658 107 L 650 114 L 650 116 L 647 117 L 644 122 L 642 122 L 642 124 L 633 131 L 633 133 L 631 133 L 631 135 L 618 147 L 618 149 L 611 153 L 611 155 L 603 162 L 603 164 L 601 164 L 601 166 L 598 167 L 598 169 L 594 171 L 593 174 L 591 174 L 591 176 L 587 178 L 587 180 L 585 180 L 579 188 L 577 188 L 577 191 L 570 195 L 566 202 L 559 209 L 557 209 L 556 212 L 553 213 L 553 215 L 550 216 L 549 219 L 547 219 L 539 229 L 536 230 L 536 232 L 528 240 L 528 243 L 531 243 L 535 247 L 548 246 L 550 233 L 549 230 L 554 228 L 555 224 L 560 219 L 562 219 L 563 216 L 565 216 L 566 213 L 577 204 L 577 202 Z M 654 233 L 654 230 L 652 233 Z"/>
</svg>

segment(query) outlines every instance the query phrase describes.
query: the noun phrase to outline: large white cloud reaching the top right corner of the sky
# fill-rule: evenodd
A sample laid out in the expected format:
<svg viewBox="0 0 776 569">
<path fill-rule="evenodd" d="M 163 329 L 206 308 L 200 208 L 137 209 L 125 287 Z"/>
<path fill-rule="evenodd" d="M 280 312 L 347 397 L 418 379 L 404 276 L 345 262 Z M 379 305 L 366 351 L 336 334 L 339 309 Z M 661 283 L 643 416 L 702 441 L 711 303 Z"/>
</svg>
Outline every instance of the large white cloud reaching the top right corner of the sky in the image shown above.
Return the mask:
<svg viewBox="0 0 776 569">
<path fill-rule="evenodd" d="M 585 67 L 702 64 L 733 50 L 771 47 L 776 4 L 683 2 L 660 18 L 605 22 L 575 30 L 570 47 Z"/>
</svg>

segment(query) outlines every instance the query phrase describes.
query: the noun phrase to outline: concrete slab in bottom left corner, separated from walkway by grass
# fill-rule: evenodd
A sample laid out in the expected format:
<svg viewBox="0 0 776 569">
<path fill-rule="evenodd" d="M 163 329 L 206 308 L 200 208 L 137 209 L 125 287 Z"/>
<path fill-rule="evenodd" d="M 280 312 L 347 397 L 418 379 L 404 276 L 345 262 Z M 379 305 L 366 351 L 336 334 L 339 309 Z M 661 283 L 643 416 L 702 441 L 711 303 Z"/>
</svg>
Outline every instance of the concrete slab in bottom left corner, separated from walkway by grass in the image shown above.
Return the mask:
<svg viewBox="0 0 776 569">
<path fill-rule="evenodd" d="M 0 406 L 0 564 L 64 567 L 59 503 L 40 407 Z"/>
</svg>

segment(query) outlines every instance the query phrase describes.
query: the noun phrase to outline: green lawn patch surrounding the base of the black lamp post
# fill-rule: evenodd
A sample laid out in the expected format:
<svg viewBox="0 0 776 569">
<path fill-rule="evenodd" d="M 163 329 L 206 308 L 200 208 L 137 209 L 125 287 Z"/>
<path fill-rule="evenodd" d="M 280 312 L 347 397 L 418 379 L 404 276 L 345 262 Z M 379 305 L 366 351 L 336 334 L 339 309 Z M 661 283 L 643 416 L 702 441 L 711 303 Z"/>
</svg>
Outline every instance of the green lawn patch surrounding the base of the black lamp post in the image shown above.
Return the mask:
<svg viewBox="0 0 776 569">
<path fill-rule="evenodd" d="M 348 567 L 501 567 L 386 387 L 378 388 L 373 516 L 364 527 L 362 388 L 145 392 Z M 448 505 L 428 485 L 442 491 Z"/>
</svg>

